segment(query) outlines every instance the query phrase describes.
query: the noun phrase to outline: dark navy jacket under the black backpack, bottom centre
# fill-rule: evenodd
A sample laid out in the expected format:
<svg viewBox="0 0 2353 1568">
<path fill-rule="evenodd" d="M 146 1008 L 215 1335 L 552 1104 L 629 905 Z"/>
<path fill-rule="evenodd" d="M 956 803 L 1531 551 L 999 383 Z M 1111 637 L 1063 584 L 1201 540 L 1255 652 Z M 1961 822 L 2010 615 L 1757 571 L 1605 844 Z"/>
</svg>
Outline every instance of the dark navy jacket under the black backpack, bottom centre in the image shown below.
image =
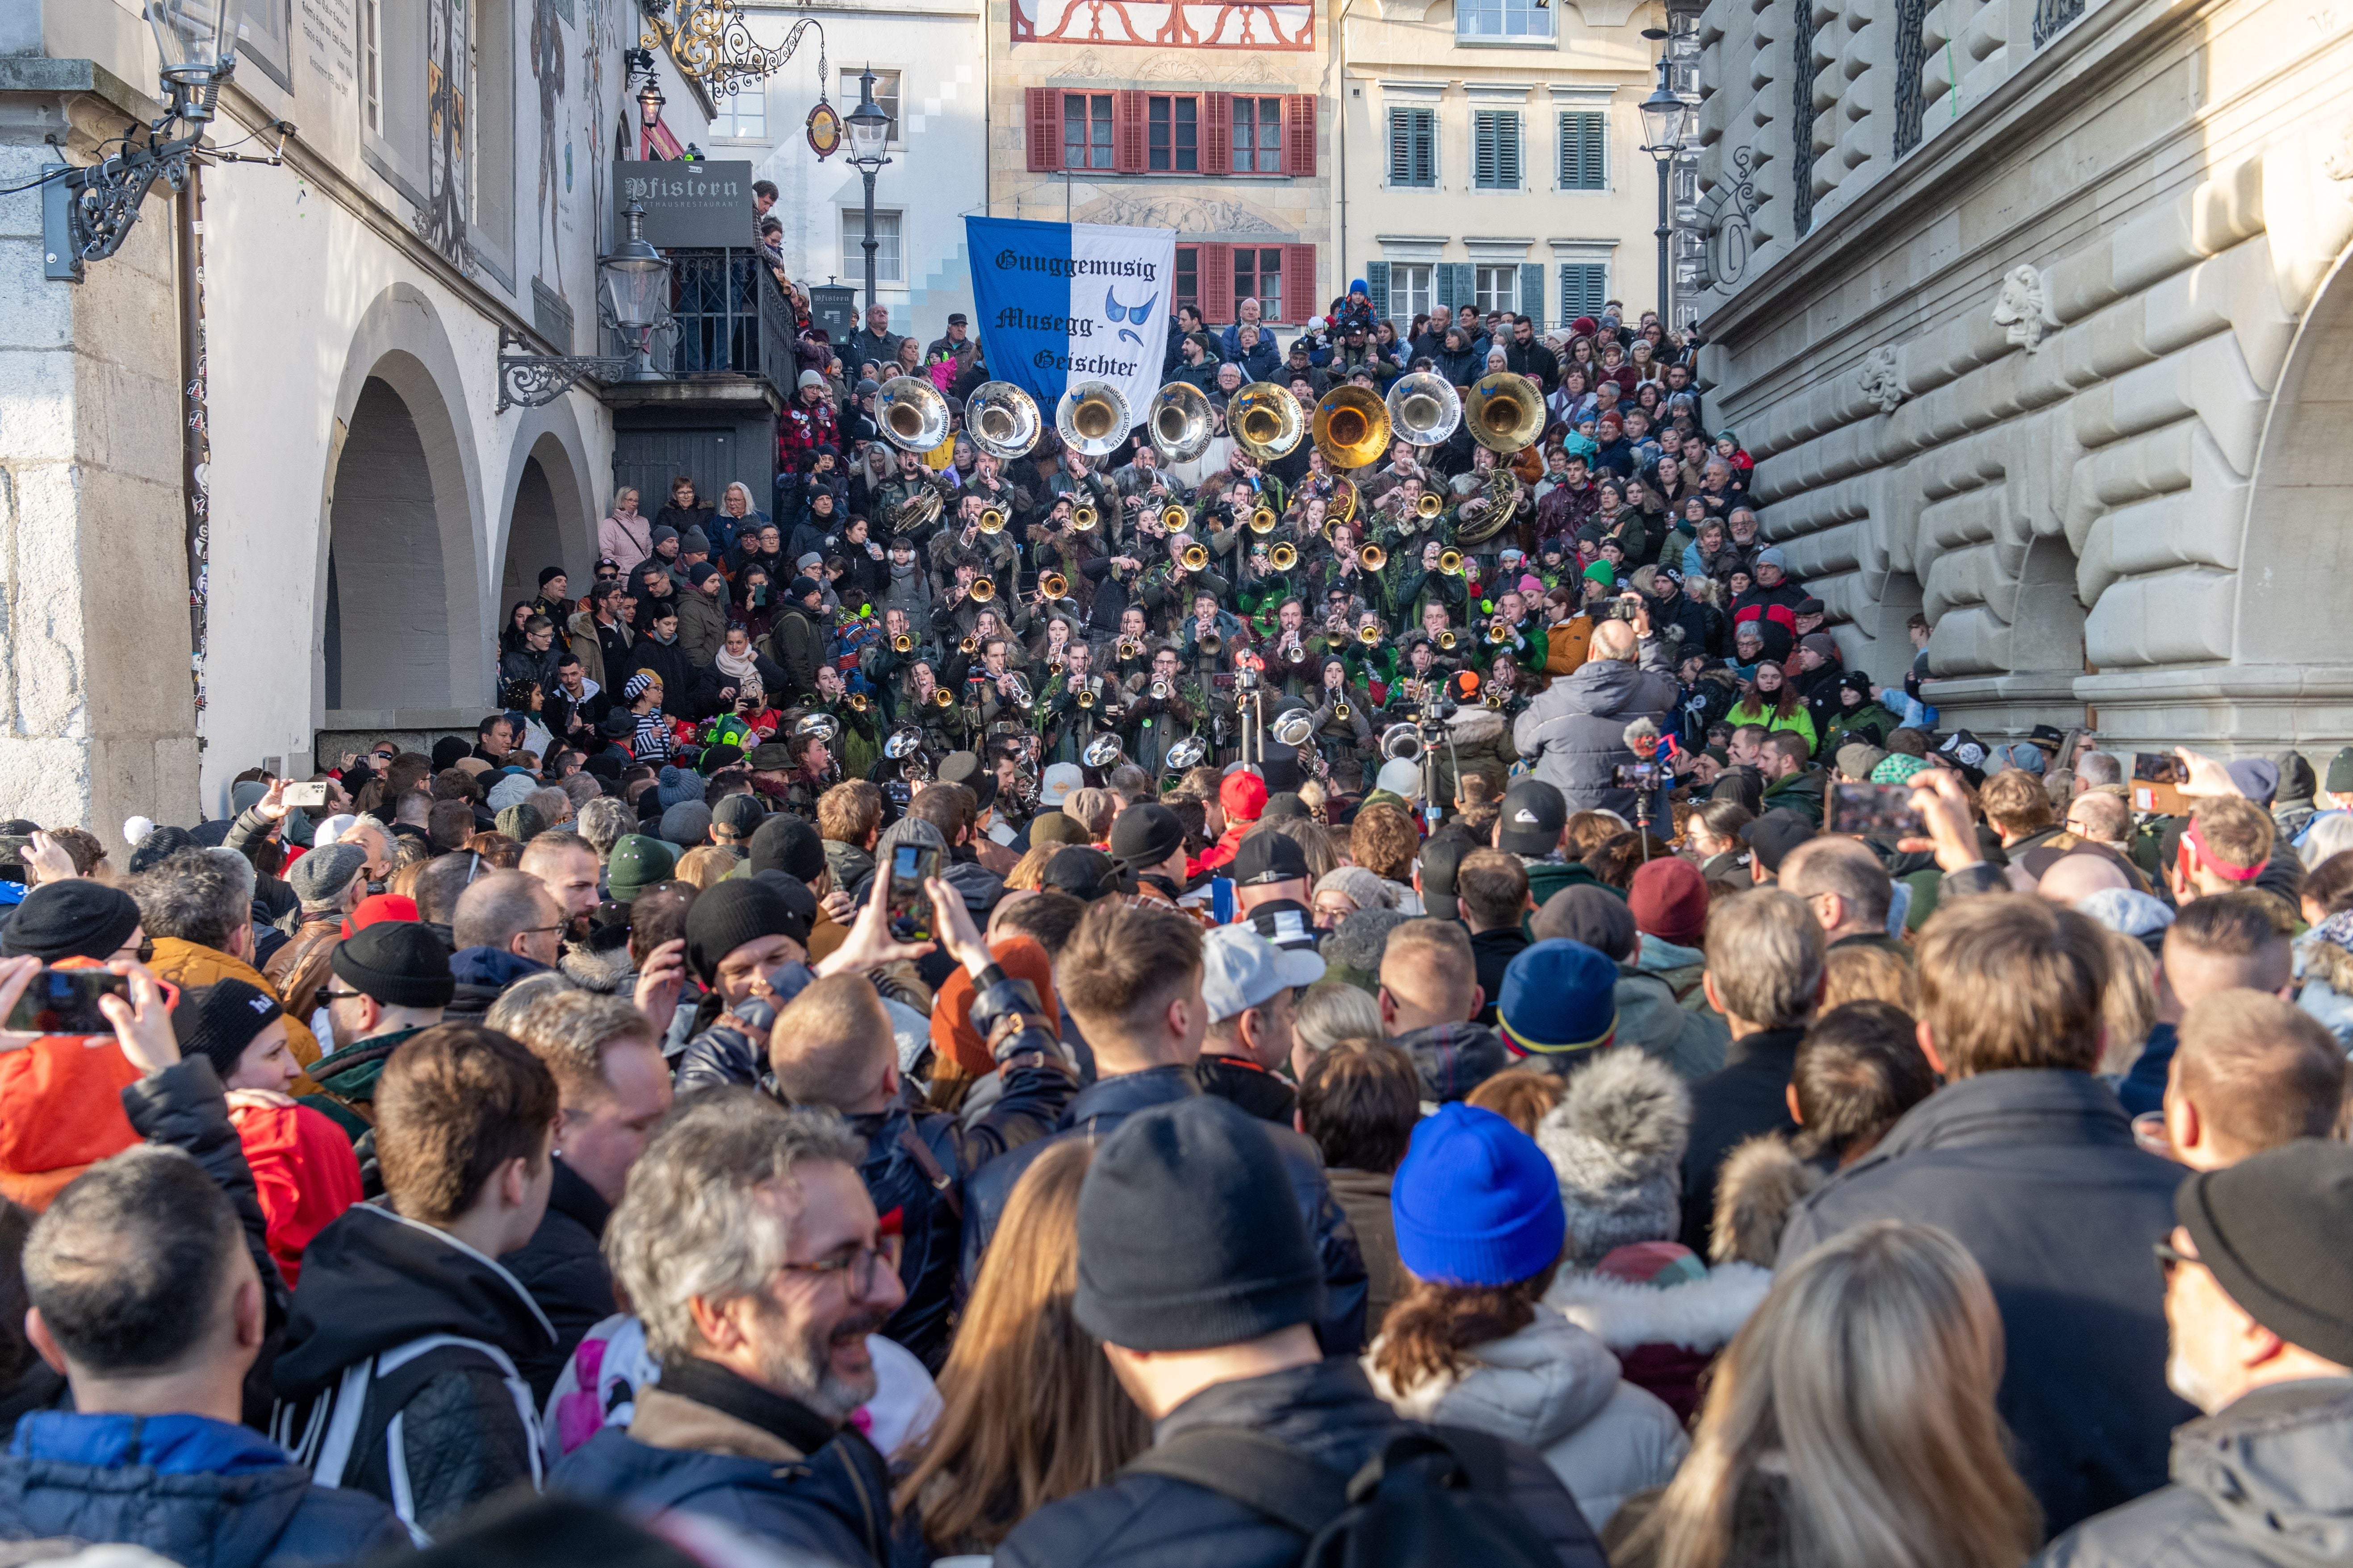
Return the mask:
<svg viewBox="0 0 2353 1568">
<path fill-rule="evenodd" d="M 1212 1385 L 1169 1410 L 1153 1441 L 1202 1427 L 1247 1427 L 1344 1476 L 1407 1432 L 1365 1371 L 1341 1356 Z M 1506 1455 L 1511 1502 L 1562 1568 L 1602 1568 L 1600 1542 L 1553 1469 L 1518 1443 L 1506 1443 Z M 1129 1474 L 1024 1519 L 998 1547 L 995 1568 L 1289 1568 L 1304 1547 L 1287 1526 L 1231 1497 Z"/>
</svg>

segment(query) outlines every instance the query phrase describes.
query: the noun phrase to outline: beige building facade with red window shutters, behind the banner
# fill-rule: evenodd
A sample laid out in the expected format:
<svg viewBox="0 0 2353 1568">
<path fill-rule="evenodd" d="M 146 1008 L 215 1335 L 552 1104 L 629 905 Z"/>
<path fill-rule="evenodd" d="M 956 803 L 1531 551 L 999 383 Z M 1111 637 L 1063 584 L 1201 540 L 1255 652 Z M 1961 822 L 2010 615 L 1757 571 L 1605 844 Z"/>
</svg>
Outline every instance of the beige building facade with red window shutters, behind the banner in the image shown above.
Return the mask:
<svg viewBox="0 0 2353 1568">
<path fill-rule="evenodd" d="M 991 216 L 1174 228 L 1162 315 L 1299 324 L 1348 284 L 1325 0 L 986 0 L 986 35 Z"/>
</svg>

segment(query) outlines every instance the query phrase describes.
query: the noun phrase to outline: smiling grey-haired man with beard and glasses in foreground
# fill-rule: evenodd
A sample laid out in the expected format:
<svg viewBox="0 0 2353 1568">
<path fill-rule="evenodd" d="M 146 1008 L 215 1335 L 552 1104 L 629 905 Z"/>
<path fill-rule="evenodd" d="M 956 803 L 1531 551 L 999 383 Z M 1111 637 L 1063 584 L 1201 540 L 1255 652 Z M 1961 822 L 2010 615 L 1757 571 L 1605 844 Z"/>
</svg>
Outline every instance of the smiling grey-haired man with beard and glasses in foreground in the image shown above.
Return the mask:
<svg viewBox="0 0 2353 1568">
<path fill-rule="evenodd" d="M 605 1234 L 661 1380 L 551 1488 L 882 1561 L 889 1469 L 849 1418 L 875 1396 L 866 1335 L 906 1288 L 859 1154 L 840 1117 L 751 1091 L 708 1093 L 661 1128 Z"/>
</svg>

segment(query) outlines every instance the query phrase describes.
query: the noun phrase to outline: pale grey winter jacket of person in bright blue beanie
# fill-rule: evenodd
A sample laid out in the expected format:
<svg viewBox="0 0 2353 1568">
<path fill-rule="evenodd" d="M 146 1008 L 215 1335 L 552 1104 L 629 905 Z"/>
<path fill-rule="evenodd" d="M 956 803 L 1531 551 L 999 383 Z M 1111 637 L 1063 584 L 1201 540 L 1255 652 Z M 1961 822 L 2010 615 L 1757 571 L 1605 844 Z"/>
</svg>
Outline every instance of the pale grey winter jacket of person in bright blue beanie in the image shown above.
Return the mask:
<svg viewBox="0 0 2353 1568">
<path fill-rule="evenodd" d="M 1551 1307 L 1511 1338 L 1464 1352 L 1459 1375 L 1412 1389 L 1381 1378 L 1377 1354 L 1379 1345 L 1365 1352 L 1365 1375 L 1398 1415 L 1534 1448 L 1595 1530 L 1633 1493 L 1666 1486 L 1692 1448 L 1675 1413 L 1621 1380 L 1617 1356 Z"/>
</svg>

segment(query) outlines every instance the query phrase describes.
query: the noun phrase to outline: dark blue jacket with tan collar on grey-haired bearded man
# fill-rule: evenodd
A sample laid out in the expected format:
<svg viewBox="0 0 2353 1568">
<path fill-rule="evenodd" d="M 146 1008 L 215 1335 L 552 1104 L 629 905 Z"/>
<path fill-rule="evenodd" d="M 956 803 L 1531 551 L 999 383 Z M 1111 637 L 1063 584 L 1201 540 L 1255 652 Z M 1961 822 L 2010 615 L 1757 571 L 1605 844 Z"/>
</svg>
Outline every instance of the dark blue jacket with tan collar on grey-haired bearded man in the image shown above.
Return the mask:
<svg viewBox="0 0 2353 1568">
<path fill-rule="evenodd" d="M 882 1563 L 889 1472 L 854 1427 L 833 1427 L 711 1361 L 675 1361 L 638 1389 L 628 1429 L 605 1427 L 548 1476 L 551 1490 L 734 1526 L 824 1563 Z"/>
</svg>

